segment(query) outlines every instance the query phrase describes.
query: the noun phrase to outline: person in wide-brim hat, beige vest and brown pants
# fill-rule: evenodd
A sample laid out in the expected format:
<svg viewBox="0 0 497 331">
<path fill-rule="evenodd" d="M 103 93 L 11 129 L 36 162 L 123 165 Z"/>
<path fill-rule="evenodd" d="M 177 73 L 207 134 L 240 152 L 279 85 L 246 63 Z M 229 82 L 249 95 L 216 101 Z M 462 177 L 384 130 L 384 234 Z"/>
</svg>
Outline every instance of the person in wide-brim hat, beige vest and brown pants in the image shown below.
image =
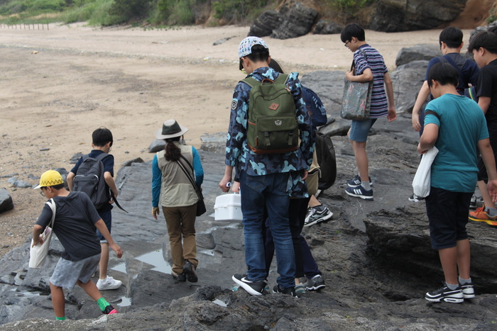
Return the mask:
<svg viewBox="0 0 497 331">
<path fill-rule="evenodd" d="M 171 274 L 178 281 L 196 283 L 199 262 L 195 218 L 199 197 L 189 177 L 200 187 L 204 169 L 195 147 L 180 142 L 187 130 L 176 120 L 165 120 L 162 128 L 155 131 L 155 138 L 166 143 L 152 161 L 152 215 L 157 219 L 162 210 L 168 226 L 173 259 Z"/>
</svg>

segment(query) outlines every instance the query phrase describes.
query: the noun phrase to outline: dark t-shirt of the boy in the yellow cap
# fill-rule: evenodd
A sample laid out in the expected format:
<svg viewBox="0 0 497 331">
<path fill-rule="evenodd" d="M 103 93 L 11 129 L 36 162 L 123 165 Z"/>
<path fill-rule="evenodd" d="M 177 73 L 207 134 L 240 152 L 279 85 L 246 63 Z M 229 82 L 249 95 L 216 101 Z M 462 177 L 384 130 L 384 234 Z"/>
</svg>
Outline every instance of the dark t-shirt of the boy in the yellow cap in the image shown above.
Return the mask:
<svg viewBox="0 0 497 331">
<path fill-rule="evenodd" d="M 65 249 L 62 258 L 80 261 L 100 254 L 102 248 L 97 237 L 95 223 L 100 219 L 88 196 L 82 192 L 70 192 L 68 196 L 55 196 L 55 220 L 53 232 Z M 36 224 L 45 228 L 52 220 L 52 209 L 45 203 Z"/>
</svg>

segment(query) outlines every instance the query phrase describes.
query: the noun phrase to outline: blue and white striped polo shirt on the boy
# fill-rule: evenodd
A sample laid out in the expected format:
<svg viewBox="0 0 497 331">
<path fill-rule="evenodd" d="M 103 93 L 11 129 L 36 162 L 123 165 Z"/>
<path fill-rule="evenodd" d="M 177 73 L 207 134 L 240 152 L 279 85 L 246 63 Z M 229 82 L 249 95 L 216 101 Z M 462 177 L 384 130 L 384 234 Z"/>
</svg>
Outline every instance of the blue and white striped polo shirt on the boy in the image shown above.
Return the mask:
<svg viewBox="0 0 497 331">
<path fill-rule="evenodd" d="M 366 53 L 364 57 L 363 52 Z M 356 74 L 362 74 L 367 68 L 373 72 L 373 91 L 371 93 L 371 108 L 369 118 L 381 118 L 388 115 L 388 102 L 386 100 L 385 85 L 383 82 L 384 75 L 388 72 L 383 57 L 368 44 L 361 45 L 354 52 L 354 65 Z"/>
</svg>

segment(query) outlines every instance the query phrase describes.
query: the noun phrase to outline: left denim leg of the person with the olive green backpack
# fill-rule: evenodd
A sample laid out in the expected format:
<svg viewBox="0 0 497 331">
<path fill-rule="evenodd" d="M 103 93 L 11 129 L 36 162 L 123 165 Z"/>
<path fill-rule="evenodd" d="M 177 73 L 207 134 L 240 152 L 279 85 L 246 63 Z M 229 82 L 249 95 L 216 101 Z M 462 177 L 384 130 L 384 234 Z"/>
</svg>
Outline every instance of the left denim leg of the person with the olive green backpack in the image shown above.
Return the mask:
<svg viewBox="0 0 497 331">
<path fill-rule="evenodd" d="M 242 223 L 245 238 L 245 262 L 247 279 L 252 282 L 266 279 L 266 259 L 262 228 L 264 208 L 266 206 L 266 176 L 249 176 L 246 172 L 240 175 Z M 286 206 L 288 208 L 288 205 Z M 272 232 L 272 231 L 271 231 Z M 290 232 L 290 231 L 288 231 Z M 288 234 L 290 238 L 290 234 Z M 279 264 L 279 261 L 278 261 Z"/>
</svg>

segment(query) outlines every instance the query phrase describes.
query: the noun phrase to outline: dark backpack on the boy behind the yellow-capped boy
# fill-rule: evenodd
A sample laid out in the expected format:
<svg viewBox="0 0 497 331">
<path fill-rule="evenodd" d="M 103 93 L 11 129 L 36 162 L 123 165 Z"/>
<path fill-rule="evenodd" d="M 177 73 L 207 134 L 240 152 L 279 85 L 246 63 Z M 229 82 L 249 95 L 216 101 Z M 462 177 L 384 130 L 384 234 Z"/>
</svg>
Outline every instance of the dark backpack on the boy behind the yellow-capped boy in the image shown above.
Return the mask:
<svg viewBox="0 0 497 331">
<path fill-rule="evenodd" d="M 74 179 L 73 191 L 87 193 L 97 211 L 108 205 L 110 200 L 110 189 L 105 183 L 102 163 L 102 160 L 108 156 L 107 153 L 102 153 L 98 157 L 83 155 L 83 162 L 77 169 Z"/>
</svg>

